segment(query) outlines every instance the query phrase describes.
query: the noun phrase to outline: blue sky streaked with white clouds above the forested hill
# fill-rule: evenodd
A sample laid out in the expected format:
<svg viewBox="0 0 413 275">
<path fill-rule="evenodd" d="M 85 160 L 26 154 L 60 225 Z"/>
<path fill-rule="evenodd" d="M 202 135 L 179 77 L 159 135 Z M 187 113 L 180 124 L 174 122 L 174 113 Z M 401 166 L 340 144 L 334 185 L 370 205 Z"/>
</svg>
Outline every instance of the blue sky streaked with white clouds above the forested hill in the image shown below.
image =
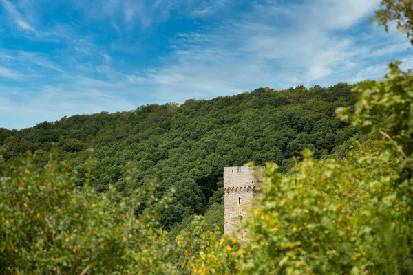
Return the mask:
<svg viewBox="0 0 413 275">
<path fill-rule="evenodd" d="M 257 87 L 355 83 L 407 39 L 379 0 L 0 0 L 0 127 Z"/>
</svg>

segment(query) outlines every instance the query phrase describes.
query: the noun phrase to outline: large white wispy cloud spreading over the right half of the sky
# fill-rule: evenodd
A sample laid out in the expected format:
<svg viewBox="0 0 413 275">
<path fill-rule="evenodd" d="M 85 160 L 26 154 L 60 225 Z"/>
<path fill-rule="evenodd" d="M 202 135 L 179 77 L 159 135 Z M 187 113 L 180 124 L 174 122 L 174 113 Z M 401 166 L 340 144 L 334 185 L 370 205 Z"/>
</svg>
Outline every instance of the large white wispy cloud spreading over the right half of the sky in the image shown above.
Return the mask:
<svg viewBox="0 0 413 275">
<path fill-rule="evenodd" d="M 282 8 L 271 1 L 255 3 L 253 10 L 240 15 L 242 21 L 177 34 L 171 39 L 176 50 L 165 57 L 164 67 L 148 77 L 169 100 L 169 94 L 211 98 L 254 87 L 332 85 L 361 76 L 374 78 L 379 70 L 366 69 L 367 64 L 378 56 L 405 51 L 408 43 L 390 35 L 377 45 L 372 37 L 363 40 L 344 31 L 357 23 L 367 24 L 378 3 L 317 0 Z M 377 29 L 371 25 L 366 36 L 379 31 L 385 36 Z"/>
</svg>

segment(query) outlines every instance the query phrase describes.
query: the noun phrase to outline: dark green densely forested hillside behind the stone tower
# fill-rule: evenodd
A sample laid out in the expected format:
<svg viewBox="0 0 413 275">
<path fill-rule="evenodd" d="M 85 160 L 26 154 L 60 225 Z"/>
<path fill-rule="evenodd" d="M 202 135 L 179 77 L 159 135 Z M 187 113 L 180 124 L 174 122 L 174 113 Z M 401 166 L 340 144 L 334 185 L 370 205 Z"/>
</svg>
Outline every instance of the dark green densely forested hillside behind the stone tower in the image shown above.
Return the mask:
<svg viewBox="0 0 413 275">
<path fill-rule="evenodd" d="M 104 192 L 109 184 L 122 194 L 127 162 L 136 169 L 133 188 L 159 184 L 158 195 L 175 186 L 171 207 L 162 216 L 171 229 L 192 214 L 222 222 L 222 171 L 255 161 L 276 162 L 286 173 L 292 157 L 310 148 L 319 158 L 342 154 L 357 130 L 341 122 L 335 109 L 353 105 L 352 85 L 339 83 L 275 91 L 255 89 L 212 100 L 187 100 L 178 105 L 151 104 L 134 111 L 74 115 L 43 122 L 21 131 L 0 129 L 0 146 L 10 164 L 26 151 L 36 163 L 47 163 L 52 142 L 62 159 L 85 176 L 87 148 L 98 159 L 93 185 Z M 207 210 L 208 208 L 208 210 Z"/>
</svg>

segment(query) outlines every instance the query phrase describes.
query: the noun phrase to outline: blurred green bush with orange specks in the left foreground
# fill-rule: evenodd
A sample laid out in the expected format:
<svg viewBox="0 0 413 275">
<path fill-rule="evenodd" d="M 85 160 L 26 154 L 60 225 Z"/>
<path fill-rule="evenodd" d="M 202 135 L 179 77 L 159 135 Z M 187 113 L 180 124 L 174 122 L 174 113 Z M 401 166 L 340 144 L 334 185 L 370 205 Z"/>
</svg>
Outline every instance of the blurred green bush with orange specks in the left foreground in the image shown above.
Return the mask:
<svg viewBox="0 0 413 275">
<path fill-rule="evenodd" d="M 93 163 L 90 158 L 88 171 Z M 137 217 L 136 193 L 120 200 L 113 188 L 98 194 L 89 172 L 76 188 L 73 171 L 56 160 L 56 151 L 44 169 L 29 156 L 11 176 L 2 162 L 0 175 L 0 274 L 174 272 L 173 251 L 159 228 L 170 196 L 158 200 L 149 192 Z"/>
</svg>

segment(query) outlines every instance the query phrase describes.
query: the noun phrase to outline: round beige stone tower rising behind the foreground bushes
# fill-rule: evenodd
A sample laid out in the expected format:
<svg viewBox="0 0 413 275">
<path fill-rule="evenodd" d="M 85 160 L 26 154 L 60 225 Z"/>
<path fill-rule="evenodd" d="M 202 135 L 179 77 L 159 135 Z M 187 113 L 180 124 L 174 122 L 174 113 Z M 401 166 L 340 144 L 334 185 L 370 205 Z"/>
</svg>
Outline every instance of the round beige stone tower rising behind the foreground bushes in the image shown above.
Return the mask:
<svg viewBox="0 0 413 275">
<path fill-rule="evenodd" d="M 256 188 L 260 184 L 259 170 L 248 166 L 234 166 L 224 168 L 224 233 L 236 232 L 239 223 L 246 212 L 243 208 L 250 206 L 253 199 L 260 195 Z M 244 239 L 242 232 L 237 233 L 237 239 Z"/>
</svg>

